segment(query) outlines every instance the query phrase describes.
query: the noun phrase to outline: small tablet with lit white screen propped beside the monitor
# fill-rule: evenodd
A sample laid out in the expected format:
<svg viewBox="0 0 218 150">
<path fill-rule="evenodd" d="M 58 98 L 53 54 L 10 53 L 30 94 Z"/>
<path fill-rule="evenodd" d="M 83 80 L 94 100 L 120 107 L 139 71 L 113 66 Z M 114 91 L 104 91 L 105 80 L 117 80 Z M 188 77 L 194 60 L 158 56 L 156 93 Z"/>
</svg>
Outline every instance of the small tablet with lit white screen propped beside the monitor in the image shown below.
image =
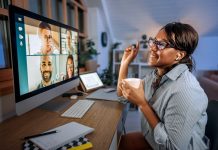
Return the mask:
<svg viewBox="0 0 218 150">
<path fill-rule="evenodd" d="M 89 92 L 104 86 L 97 72 L 80 74 L 79 77 L 84 92 Z"/>
</svg>

